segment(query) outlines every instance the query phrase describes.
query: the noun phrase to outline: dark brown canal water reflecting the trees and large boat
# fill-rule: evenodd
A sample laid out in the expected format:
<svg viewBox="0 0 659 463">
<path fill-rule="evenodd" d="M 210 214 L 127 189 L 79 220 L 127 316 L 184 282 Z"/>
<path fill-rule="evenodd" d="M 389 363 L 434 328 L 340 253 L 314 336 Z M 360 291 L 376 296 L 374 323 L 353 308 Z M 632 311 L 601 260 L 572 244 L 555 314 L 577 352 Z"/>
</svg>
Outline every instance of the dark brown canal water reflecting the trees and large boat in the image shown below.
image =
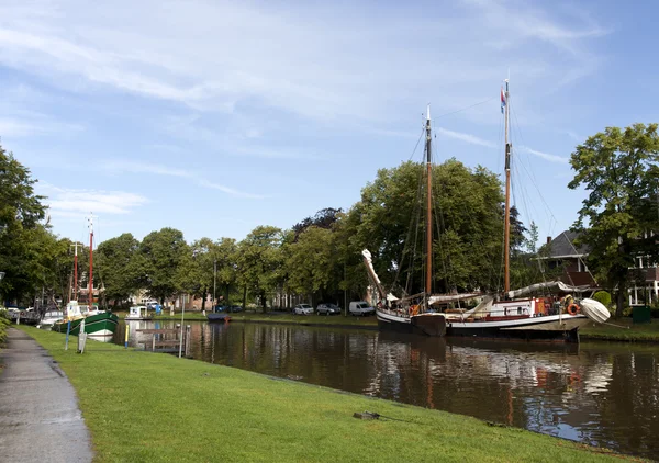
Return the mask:
<svg viewBox="0 0 659 463">
<path fill-rule="evenodd" d="M 175 326 L 130 324 L 130 345 L 136 348 L 150 348 L 152 342 L 152 335 L 136 329 Z M 465 341 L 256 323 L 187 324 L 194 359 L 659 460 L 659 347 Z M 123 345 L 124 326 L 115 334 L 116 343 Z"/>
</svg>

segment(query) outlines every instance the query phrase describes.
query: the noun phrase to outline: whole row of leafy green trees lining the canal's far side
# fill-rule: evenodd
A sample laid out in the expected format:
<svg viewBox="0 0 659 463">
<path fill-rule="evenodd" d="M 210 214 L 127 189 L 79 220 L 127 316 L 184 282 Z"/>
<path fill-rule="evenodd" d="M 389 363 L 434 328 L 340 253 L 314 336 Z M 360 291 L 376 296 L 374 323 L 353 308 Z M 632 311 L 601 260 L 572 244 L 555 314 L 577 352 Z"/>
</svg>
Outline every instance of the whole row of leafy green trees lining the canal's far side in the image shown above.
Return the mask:
<svg viewBox="0 0 659 463">
<path fill-rule="evenodd" d="M 592 249 L 601 283 L 626 294 L 629 259 L 659 252 L 656 240 L 639 239 L 659 229 L 652 200 L 659 191 L 657 125 L 607 128 L 572 154 L 576 171 L 570 188 L 585 187 L 576 229 Z M 368 286 L 360 251 L 368 248 L 386 287 L 414 294 L 423 287 L 423 166 L 403 162 L 381 169 L 365 185 L 349 211 L 325 208 L 290 229 L 258 226 L 243 240 L 201 238 L 187 242 L 174 228 L 137 240 L 130 233 L 103 241 L 94 253 L 94 286 L 104 286 L 109 305 L 122 305 L 138 290 L 165 301 L 180 293 L 213 293 L 264 310 L 277 294 L 300 295 L 315 304 L 362 297 Z M 501 290 L 503 196 L 496 174 L 456 159 L 434 168 L 434 290 Z M 0 281 L 4 301 L 27 303 L 45 289 L 64 300 L 71 284 L 72 248 L 55 236 L 35 195 L 35 180 L 0 147 Z M 529 258 L 536 251 L 537 227 L 511 211 L 511 284 L 522 286 L 546 278 Z M 86 268 L 88 249 L 79 251 Z M 613 258 L 612 258 L 613 256 Z M 627 266 L 627 267 L 625 267 Z M 214 279 L 216 269 L 216 279 Z M 81 272 L 79 284 L 86 272 Z M 98 280 L 97 280 L 98 279 Z M 624 297 L 618 296 L 618 305 Z"/>
</svg>

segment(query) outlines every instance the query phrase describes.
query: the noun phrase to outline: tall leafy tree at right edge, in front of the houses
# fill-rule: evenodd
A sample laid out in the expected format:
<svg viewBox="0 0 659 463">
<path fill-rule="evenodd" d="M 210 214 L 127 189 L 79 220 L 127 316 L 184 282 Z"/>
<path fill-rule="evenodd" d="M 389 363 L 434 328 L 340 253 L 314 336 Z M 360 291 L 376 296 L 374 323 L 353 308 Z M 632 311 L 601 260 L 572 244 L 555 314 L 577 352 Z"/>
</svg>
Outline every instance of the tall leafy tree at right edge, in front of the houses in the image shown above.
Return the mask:
<svg viewBox="0 0 659 463">
<path fill-rule="evenodd" d="M 599 281 L 615 292 L 616 317 L 623 314 L 635 258 L 659 255 L 656 237 L 646 235 L 657 230 L 649 211 L 659 191 L 658 153 L 657 124 L 634 124 L 606 127 L 570 158 L 576 174 L 568 187 L 588 191 L 572 229 L 590 247 L 589 263 Z"/>
</svg>

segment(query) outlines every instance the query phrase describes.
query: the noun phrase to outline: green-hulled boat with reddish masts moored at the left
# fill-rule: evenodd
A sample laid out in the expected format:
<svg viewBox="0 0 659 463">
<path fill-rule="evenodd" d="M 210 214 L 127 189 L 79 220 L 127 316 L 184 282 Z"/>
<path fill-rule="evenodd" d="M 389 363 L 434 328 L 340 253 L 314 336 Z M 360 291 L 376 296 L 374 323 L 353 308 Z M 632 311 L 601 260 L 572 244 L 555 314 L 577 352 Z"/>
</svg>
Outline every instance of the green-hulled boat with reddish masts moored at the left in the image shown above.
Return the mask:
<svg viewBox="0 0 659 463">
<path fill-rule="evenodd" d="M 98 306 L 93 306 L 93 217 L 89 218 L 89 292 L 88 292 L 88 306 L 81 306 L 77 301 L 78 292 L 78 244 L 76 242 L 76 251 L 74 257 L 74 297 L 75 300 L 69 301 L 66 305 L 66 313 L 62 320 L 53 325 L 53 330 L 58 332 L 69 332 L 74 336 L 80 334 L 80 329 L 91 339 L 110 341 L 119 318 L 111 312 L 99 310 Z M 70 328 L 69 328 L 70 323 Z"/>
</svg>

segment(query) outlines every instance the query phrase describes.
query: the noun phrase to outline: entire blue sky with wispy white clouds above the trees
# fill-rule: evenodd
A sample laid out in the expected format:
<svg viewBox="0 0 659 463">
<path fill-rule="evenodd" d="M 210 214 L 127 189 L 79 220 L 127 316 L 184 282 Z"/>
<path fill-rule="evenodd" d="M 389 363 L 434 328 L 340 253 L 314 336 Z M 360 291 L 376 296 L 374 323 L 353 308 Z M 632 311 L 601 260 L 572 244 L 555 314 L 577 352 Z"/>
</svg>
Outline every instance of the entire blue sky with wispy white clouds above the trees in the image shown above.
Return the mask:
<svg viewBox="0 0 659 463">
<path fill-rule="evenodd" d="M 574 146 L 657 121 L 651 2 L 0 2 L 0 136 L 54 230 L 242 239 L 349 208 L 410 159 L 425 105 L 436 160 L 503 166 L 540 234 L 577 217 Z M 415 159 L 420 159 L 420 151 Z"/>
</svg>

